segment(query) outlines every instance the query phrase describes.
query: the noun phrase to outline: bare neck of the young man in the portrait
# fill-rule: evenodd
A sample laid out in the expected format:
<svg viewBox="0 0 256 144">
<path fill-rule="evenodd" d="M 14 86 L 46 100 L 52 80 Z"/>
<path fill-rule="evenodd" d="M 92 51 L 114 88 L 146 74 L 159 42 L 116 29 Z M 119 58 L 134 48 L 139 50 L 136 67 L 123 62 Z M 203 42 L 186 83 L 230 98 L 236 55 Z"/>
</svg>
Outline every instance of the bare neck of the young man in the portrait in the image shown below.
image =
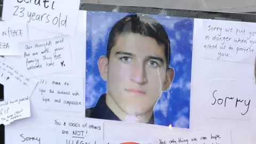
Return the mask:
<svg viewBox="0 0 256 144">
<path fill-rule="evenodd" d="M 148 110 L 144 114 L 140 115 L 131 115 L 125 113 L 117 103 L 113 100 L 109 93 L 106 94 L 106 104 L 111 111 L 121 120 L 126 122 L 135 122 L 135 123 L 148 123 L 153 115 L 153 109 Z"/>
</svg>

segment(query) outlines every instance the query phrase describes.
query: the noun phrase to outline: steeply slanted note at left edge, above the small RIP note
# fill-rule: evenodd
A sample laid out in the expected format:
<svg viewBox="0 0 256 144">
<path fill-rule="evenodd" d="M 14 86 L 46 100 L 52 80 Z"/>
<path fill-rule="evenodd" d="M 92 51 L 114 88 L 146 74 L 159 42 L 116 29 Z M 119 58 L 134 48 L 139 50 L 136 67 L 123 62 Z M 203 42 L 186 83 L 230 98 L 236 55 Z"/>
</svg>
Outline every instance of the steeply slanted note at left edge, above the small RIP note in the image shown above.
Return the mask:
<svg viewBox="0 0 256 144">
<path fill-rule="evenodd" d="M 0 83 L 4 85 L 4 97 L 9 99 L 15 95 L 30 96 L 37 85 L 36 79 L 15 70 L 0 57 Z"/>
</svg>

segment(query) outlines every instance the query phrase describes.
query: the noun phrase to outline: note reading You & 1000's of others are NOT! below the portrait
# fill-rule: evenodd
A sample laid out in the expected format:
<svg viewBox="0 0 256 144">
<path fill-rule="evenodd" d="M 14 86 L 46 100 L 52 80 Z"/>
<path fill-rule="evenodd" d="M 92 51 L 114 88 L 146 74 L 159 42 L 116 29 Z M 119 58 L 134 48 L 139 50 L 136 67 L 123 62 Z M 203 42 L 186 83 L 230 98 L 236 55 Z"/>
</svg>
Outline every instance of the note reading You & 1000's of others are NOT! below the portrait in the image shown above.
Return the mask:
<svg viewBox="0 0 256 144">
<path fill-rule="evenodd" d="M 82 119 L 54 119 L 58 143 L 103 141 L 103 122 Z"/>
</svg>

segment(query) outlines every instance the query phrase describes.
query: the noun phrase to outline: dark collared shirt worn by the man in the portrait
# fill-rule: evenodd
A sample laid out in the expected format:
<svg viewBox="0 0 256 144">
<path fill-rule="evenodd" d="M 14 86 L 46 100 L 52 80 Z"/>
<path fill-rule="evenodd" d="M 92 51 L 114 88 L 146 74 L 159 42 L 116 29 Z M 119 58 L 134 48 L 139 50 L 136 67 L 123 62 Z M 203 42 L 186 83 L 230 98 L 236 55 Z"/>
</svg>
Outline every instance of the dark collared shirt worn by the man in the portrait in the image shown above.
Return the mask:
<svg viewBox="0 0 256 144">
<path fill-rule="evenodd" d="M 102 94 L 95 107 L 85 110 L 85 117 L 121 121 L 106 104 L 106 94 Z M 148 124 L 154 124 L 154 114 Z"/>
</svg>

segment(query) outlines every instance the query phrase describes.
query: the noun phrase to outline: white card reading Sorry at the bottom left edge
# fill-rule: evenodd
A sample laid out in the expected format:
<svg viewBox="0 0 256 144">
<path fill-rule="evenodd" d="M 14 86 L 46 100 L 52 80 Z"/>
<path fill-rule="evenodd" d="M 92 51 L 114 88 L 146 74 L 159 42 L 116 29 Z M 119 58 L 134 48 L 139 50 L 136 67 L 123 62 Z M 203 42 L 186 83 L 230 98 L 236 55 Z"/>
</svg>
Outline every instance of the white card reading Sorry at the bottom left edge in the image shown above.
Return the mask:
<svg viewBox="0 0 256 144">
<path fill-rule="evenodd" d="M 12 132 L 10 144 L 57 144 L 53 127 L 49 126 L 17 126 Z"/>
</svg>

